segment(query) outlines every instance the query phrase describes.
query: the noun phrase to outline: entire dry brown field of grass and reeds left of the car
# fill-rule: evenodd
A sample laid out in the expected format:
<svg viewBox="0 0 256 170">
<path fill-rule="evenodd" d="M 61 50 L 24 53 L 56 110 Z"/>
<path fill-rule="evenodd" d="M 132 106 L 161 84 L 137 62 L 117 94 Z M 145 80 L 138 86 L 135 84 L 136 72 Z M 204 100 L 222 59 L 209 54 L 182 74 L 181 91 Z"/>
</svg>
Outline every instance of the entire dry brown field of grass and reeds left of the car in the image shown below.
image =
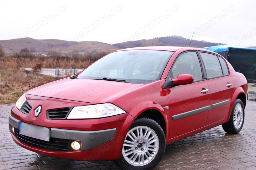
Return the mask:
<svg viewBox="0 0 256 170">
<path fill-rule="evenodd" d="M 105 53 L 101 54 L 105 55 Z M 25 71 L 24 68 L 37 68 L 38 64 L 41 68 L 86 68 L 102 56 L 88 54 L 78 57 L 47 57 L 16 54 L 0 57 L 0 104 L 15 103 L 26 91 L 63 78 L 37 76 L 33 70 Z"/>
</svg>

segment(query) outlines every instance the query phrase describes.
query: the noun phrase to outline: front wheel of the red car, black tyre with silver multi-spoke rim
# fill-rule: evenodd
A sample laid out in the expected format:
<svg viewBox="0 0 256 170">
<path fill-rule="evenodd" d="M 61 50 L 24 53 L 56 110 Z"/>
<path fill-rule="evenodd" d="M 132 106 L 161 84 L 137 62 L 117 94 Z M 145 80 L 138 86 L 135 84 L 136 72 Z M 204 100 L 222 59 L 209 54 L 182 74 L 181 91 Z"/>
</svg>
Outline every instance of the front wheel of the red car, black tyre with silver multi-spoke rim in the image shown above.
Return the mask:
<svg viewBox="0 0 256 170">
<path fill-rule="evenodd" d="M 126 134 L 122 157 L 115 163 L 125 170 L 153 169 L 162 159 L 165 146 L 161 126 L 150 118 L 138 118 Z"/>
</svg>

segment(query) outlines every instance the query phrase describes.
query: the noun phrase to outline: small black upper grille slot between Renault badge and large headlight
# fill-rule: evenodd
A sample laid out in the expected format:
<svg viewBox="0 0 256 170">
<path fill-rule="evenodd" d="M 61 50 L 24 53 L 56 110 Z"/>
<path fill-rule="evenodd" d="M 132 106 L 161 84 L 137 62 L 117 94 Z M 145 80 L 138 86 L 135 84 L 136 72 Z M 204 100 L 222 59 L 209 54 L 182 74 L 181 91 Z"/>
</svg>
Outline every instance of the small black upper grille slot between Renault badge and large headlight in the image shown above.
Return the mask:
<svg viewBox="0 0 256 170">
<path fill-rule="evenodd" d="M 47 119 L 66 119 L 72 108 L 73 107 L 48 110 L 46 112 L 46 117 Z"/>
</svg>

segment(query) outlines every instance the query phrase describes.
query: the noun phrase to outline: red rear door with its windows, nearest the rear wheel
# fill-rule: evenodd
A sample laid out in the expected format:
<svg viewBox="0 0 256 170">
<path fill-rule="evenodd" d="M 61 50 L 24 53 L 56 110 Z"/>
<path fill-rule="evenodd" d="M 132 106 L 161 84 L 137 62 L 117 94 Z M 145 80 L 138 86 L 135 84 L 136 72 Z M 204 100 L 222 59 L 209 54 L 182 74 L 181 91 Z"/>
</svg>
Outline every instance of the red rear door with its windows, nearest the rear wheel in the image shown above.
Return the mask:
<svg viewBox="0 0 256 170">
<path fill-rule="evenodd" d="M 228 71 L 226 61 L 217 55 L 200 52 L 205 66 L 207 84 L 210 92 L 207 125 L 217 122 L 228 112 L 233 93 L 233 81 Z"/>
</svg>

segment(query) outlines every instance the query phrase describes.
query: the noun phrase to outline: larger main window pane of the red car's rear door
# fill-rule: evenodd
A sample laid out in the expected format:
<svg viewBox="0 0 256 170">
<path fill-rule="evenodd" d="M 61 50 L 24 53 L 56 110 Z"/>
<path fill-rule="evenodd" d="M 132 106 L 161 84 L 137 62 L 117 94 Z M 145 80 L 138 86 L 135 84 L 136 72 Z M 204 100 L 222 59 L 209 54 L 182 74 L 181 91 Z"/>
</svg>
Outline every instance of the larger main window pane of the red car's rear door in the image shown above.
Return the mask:
<svg viewBox="0 0 256 170">
<path fill-rule="evenodd" d="M 207 78 L 223 76 L 220 62 L 216 55 L 201 52 L 200 55 L 205 65 Z"/>
</svg>

